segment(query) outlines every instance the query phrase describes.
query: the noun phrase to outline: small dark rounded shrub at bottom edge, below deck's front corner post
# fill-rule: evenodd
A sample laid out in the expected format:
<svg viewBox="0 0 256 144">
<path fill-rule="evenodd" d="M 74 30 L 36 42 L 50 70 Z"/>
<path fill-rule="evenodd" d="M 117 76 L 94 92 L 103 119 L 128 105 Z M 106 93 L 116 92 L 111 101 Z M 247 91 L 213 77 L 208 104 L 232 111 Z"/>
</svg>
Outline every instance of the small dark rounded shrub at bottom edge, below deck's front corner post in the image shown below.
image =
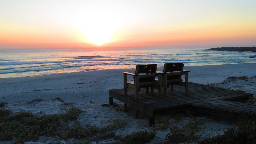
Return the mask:
<svg viewBox="0 0 256 144">
<path fill-rule="evenodd" d="M 124 140 L 121 142 L 122 144 L 143 144 L 149 143 L 150 140 L 154 139 L 156 136 L 156 132 L 148 132 L 148 131 L 138 131 L 132 132 L 132 134 L 124 137 Z"/>
</svg>

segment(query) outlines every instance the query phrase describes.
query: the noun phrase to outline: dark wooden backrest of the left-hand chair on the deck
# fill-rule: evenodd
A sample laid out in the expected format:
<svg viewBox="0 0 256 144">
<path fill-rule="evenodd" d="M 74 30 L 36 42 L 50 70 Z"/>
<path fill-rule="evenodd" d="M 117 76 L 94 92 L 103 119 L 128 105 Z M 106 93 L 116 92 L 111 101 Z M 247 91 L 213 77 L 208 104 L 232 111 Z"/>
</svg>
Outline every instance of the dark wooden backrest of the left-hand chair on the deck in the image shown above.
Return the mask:
<svg viewBox="0 0 256 144">
<path fill-rule="evenodd" d="M 157 69 L 156 64 L 149 64 L 149 65 L 137 65 L 135 74 L 155 74 Z M 153 82 L 155 80 L 155 77 L 146 77 L 146 78 L 139 78 L 139 83 L 144 83 L 144 82 Z"/>
</svg>

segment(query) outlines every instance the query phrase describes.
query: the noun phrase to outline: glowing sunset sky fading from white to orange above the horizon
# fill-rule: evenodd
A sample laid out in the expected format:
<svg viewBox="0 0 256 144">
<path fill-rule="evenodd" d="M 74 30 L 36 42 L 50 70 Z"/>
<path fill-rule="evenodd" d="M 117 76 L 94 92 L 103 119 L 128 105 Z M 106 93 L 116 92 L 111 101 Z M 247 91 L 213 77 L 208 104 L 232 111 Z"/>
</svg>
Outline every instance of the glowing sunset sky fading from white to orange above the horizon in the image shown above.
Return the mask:
<svg viewBox="0 0 256 144">
<path fill-rule="evenodd" d="M 1 0 L 0 48 L 256 46 L 256 0 Z"/>
</svg>

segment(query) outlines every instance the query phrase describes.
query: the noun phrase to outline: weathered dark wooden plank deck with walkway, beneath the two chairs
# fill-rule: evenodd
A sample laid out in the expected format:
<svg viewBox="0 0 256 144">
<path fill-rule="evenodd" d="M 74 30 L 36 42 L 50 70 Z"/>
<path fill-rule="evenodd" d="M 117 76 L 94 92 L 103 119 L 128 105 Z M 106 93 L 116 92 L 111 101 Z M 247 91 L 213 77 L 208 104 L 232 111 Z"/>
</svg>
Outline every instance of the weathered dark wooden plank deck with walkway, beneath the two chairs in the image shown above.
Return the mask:
<svg viewBox="0 0 256 144">
<path fill-rule="evenodd" d="M 235 102 L 247 100 L 253 94 L 228 90 L 189 82 L 188 95 L 185 95 L 184 87 L 173 85 L 174 91 L 167 90 L 167 97 L 158 97 L 158 93 L 146 93 L 145 88 L 139 92 L 139 99 L 134 100 L 134 90 L 127 89 L 124 97 L 123 89 L 109 90 L 109 103 L 113 104 L 113 98 L 143 112 L 149 116 L 149 125 L 154 124 L 154 117 L 164 110 L 194 110 L 198 112 L 218 115 L 218 111 L 228 113 L 240 113 L 255 116 L 256 105 Z M 225 116 L 226 113 L 219 113 Z"/>
</svg>

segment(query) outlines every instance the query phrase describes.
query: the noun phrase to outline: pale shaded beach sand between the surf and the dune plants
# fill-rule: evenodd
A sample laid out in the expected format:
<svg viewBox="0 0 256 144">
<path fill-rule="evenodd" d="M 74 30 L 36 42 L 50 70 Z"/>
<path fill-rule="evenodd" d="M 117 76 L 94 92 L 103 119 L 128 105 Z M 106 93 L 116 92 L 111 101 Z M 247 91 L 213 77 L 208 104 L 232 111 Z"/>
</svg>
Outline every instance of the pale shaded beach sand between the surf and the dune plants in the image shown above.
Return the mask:
<svg viewBox="0 0 256 144">
<path fill-rule="evenodd" d="M 190 70 L 189 81 L 201 84 L 211 84 L 222 82 L 229 76 L 255 76 L 256 63 L 249 64 L 229 64 L 229 65 L 212 65 L 212 66 L 189 66 L 185 70 Z M 159 70 L 162 70 L 159 68 Z M 132 131 L 148 130 L 148 119 L 145 115 L 140 115 L 140 119 L 134 119 L 133 110 L 130 108 L 128 113 L 116 111 L 113 107 L 101 107 L 101 104 L 108 103 L 108 89 L 117 89 L 123 87 L 122 72 L 134 72 L 134 69 L 116 69 L 102 70 L 92 72 L 64 73 L 47 76 L 21 77 L 21 78 L 1 78 L 0 79 L 0 102 L 8 102 L 8 108 L 13 112 L 25 110 L 32 113 L 51 114 L 61 112 L 60 108 L 70 107 L 63 106 L 60 101 L 52 101 L 50 99 L 60 97 L 65 102 L 75 102 L 74 107 L 85 110 L 79 116 L 81 124 L 92 124 L 103 126 L 107 120 L 119 118 L 125 120 L 128 124 L 124 128 L 116 130 L 116 134 L 126 135 Z M 132 80 L 132 77 L 129 78 Z M 252 80 L 253 81 L 253 80 Z M 243 81 L 243 88 L 249 89 L 248 92 L 255 92 L 255 87 L 248 87 Z M 77 84 L 84 83 L 84 84 Z M 225 87 L 232 85 L 241 85 L 240 81 L 227 83 Z M 255 84 L 255 83 L 251 83 Z M 254 89 L 254 90 L 252 90 Z M 36 91 L 35 91 L 36 90 Z M 39 90 L 39 91 L 37 91 Z M 250 91 L 251 90 L 251 91 Z M 33 102 L 28 104 L 27 101 L 34 99 L 43 99 L 45 101 Z M 92 101 L 92 103 L 90 102 Z M 118 102 L 115 100 L 115 102 Z M 121 103 L 120 103 L 121 104 Z M 205 119 L 205 129 L 198 132 L 203 136 L 212 135 L 215 132 L 221 133 L 223 129 L 231 124 L 213 121 L 205 116 L 199 117 Z M 181 117 L 180 121 L 174 122 L 175 116 L 172 115 L 156 115 L 156 125 L 158 121 L 169 121 L 172 126 L 182 126 L 186 124 L 190 118 Z M 151 143 L 163 141 L 170 130 L 159 130 L 156 132 L 156 138 Z M 59 141 L 52 137 L 41 137 L 39 141 L 49 143 Z M 70 142 L 72 141 L 66 141 Z M 111 140 L 108 140 L 111 141 Z M 101 141 L 104 143 L 106 141 Z M 1 143 L 1 142 L 0 142 Z M 30 142 L 28 142 L 30 143 Z"/>
</svg>

